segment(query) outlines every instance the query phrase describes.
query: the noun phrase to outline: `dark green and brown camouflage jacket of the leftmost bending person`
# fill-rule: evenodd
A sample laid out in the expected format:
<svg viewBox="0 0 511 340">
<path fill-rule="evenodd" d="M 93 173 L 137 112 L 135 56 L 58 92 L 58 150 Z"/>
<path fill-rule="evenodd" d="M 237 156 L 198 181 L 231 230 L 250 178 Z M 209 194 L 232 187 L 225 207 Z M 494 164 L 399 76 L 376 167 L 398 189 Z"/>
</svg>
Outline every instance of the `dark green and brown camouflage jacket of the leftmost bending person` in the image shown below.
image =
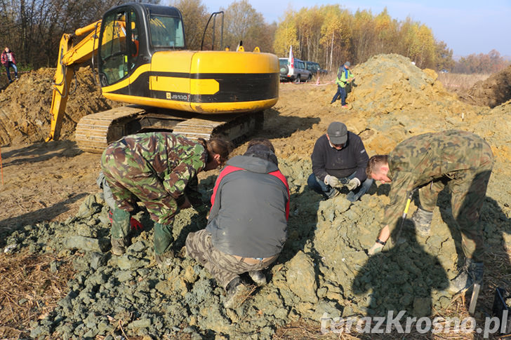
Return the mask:
<svg viewBox="0 0 511 340">
<path fill-rule="evenodd" d="M 114 149 L 117 162 L 124 160 L 124 168 L 140 174 L 157 175 L 175 199 L 185 193 L 190 182 L 192 186 L 197 185 L 195 177 L 206 166 L 207 151 L 201 144 L 170 132 L 129 135 L 115 142 L 119 143 L 125 144 L 130 152 L 126 154 L 125 149 Z"/>
</svg>

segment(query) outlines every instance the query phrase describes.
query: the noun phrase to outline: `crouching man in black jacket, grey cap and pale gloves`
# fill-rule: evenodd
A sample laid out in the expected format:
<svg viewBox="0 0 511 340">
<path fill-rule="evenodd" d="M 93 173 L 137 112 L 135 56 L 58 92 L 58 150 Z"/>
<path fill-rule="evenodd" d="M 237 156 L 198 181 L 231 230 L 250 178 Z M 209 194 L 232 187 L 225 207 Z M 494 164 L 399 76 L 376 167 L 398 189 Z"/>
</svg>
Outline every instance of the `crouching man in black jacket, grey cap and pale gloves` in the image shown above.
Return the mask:
<svg viewBox="0 0 511 340">
<path fill-rule="evenodd" d="M 366 175 L 369 156 L 364 143 L 344 123 L 334 121 L 328 125 L 326 134 L 314 144 L 311 159 L 312 174 L 307 184 L 325 199 L 338 196 L 345 186 L 350 190 L 347 200 L 354 202 L 373 184 Z"/>
</svg>

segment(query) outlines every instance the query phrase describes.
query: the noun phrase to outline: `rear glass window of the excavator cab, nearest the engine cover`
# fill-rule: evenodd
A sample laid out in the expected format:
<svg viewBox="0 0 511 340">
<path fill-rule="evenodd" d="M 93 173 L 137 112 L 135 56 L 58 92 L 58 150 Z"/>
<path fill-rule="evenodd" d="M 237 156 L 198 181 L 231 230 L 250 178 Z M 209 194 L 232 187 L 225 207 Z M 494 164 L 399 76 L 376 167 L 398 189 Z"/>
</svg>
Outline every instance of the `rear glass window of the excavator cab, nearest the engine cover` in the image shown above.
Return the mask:
<svg viewBox="0 0 511 340">
<path fill-rule="evenodd" d="M 185 48 L 181 18 L 151 15 L 151 45 L 155 48 Z"/>
</svg>

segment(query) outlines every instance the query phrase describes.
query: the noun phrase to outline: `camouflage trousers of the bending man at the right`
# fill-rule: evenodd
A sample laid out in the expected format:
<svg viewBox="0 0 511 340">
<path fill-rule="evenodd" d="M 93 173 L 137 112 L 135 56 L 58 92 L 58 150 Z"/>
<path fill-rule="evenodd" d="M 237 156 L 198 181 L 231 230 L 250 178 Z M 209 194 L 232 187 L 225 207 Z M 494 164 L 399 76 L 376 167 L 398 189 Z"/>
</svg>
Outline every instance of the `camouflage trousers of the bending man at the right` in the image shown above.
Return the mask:
<svg viewBox="0 0 511 340">
<path fill-rule="evenodd" d="M 461 243 L 465 257 L 482 262 L 484 256 L 484 238 L 479 224 L 486 188 L 493 168 L 491 147 L 484 143 L 479 159 L 470 170 L 457 171 L 444 175 L 442 179 L 419 189 L 420 205 L 424 210 L 432 211 L 437 198 L 445 186 L 451 191 L 451 208 L 461 233 Z"/>
</svg>

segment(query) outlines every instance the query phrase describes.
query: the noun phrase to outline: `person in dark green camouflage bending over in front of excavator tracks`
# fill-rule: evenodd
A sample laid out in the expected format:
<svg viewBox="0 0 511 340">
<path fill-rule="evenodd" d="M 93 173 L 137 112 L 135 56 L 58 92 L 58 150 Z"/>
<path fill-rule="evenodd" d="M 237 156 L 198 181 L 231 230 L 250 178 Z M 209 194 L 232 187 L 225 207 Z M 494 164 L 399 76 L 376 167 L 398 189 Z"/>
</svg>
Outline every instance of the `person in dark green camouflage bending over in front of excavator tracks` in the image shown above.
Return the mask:
<svg viewBox="0 0 511 340">
<path fill-rule="evenodd" d="M 110 144 L 101 168 L 117 203 L 112 216 L 112 252 L 124 254 L 130 243 L 131 212 L 140 200 L 154 223 L 154 254 L 159 266 L 168 264 L 172 224 L 179 209 L 190 208 L 197 173 L 227 161 L 230 144 L 212 139 L 187 140 L 170 132 L 128 135 Z M 190 197 L 189 197 L 190 196 Z"/>
</svg>

